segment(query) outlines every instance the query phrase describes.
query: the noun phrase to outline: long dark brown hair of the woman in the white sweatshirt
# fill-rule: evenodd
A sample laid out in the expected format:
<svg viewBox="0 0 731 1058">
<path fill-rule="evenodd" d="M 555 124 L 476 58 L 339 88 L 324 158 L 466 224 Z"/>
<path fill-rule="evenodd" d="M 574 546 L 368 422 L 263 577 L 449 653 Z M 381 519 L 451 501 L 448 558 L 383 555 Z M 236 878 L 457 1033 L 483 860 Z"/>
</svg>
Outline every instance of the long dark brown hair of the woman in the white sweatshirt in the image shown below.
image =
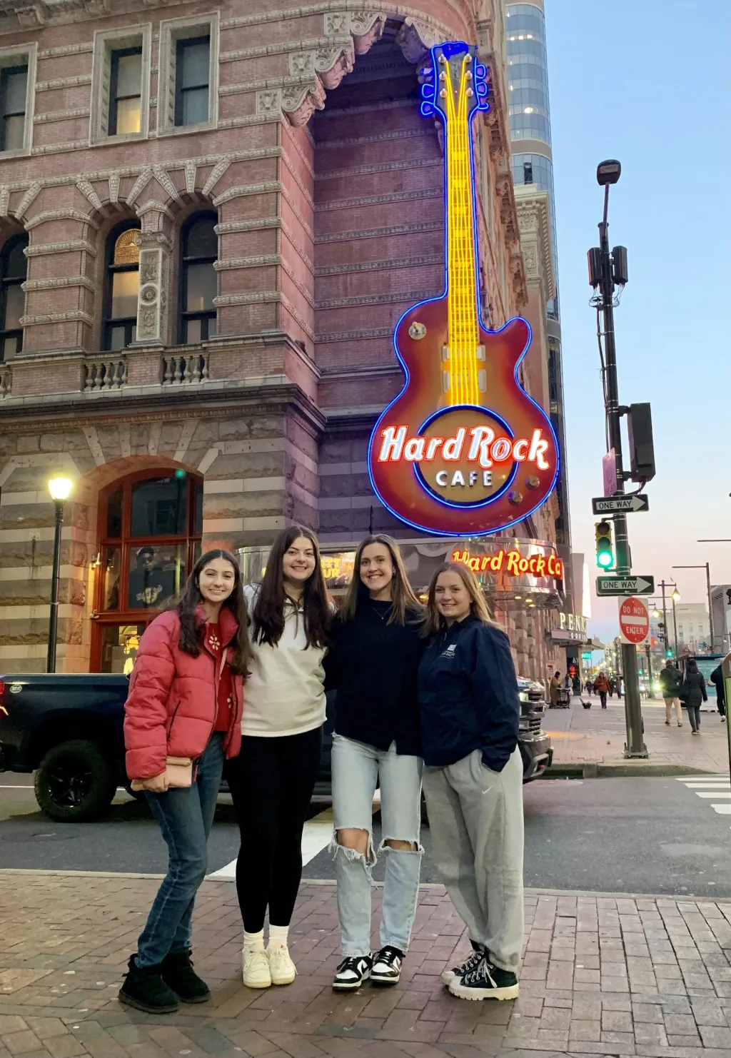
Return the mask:
<svg viewBox="0 0 731 1058">
<path fill-rule="evenodd" d="M 276 646 L 281 639 L 281 634 L 285 631 L 285 603 L 288 598 L 285 591 L 281 563 L 297 536 L 304 536 L 310 541 L 315 557 L 315 568 L 305 581 L 303 589 L 301 601 L 307 639 L 305 650 L 308 646 L 327 646 L 330 642 L 331 610 L 323 577 L 323 566 L 319 561 L 319 544 L 315 534 L 304 526 L 288 526 L 287 529 L 282 529 L 272 544 L 252 613 L 253 638 L 255 642 L 269 643 L 271 646 Z"/>
</svg>

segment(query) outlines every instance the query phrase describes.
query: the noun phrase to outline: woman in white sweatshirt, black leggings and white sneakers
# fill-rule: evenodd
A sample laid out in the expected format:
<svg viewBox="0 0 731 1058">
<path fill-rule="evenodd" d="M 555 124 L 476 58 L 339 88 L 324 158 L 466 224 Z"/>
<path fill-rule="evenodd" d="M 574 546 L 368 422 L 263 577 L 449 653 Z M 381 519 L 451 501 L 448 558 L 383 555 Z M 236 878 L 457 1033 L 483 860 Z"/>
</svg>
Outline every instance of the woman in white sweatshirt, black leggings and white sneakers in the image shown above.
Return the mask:
<svg viewBox="0 0 731 1058">
<path fill-rule="evenodd" d="M 274 541 L 261 583 L 246 585 L 251 675 L 241 752 L 226 769 L 241 847 L 236 891 L 243 920 L 242 975 L 250 988 L 288 985 L 301 836 L 323 749 L 330 602 L 315 536 L 290 526 Z M 269 909 L 269 944 L 264 917 Z"/>
</svg>

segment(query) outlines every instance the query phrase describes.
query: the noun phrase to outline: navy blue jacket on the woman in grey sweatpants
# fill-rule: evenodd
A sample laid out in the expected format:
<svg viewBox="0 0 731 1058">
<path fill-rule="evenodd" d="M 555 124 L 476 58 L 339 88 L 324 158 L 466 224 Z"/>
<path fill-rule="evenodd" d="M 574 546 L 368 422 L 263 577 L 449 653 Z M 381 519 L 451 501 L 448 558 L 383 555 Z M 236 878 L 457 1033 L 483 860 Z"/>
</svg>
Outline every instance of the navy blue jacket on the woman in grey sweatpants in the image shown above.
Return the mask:
<svg viewBox="0 0 731 1058">
<path fill-rule="evenodd" d="M 446 767 L 475 749 L 501 771 L 517 746 L 520 712 L 508 637 L 470 615 L 428 643 L 419 665 L 424 764 Z"/>
</svg>

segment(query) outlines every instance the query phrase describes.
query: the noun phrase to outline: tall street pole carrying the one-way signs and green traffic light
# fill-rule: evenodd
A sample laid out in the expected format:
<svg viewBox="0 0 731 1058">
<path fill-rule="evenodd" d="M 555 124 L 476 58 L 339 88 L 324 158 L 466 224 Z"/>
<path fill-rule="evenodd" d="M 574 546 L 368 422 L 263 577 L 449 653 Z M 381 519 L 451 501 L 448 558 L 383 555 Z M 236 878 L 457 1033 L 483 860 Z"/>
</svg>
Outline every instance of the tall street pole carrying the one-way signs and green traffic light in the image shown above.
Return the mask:
<svg viewBox="0 0 731 1058">
<path fill-rule="evenodd" d="M 600 166 L 601 168 L 601 166 Z M 617 174 L 619 179 L 619 174 Z M 609 449 L 615 450 L 617 467 L 617 492 L 624 494 L 624 472 L 622 467 L 622 432 L 620 428 L 619 385 L 617 381 L 617 348 L 615 345 L 615 280 L 609 252 L 609 184 L 604 184 L 604 217 L 599 225 L 601 254 L 601 308 L 604 317 L 604 379 L 606 399 L 606 419 L 609 435 Z M 632 571 L 629 542 L 627 540 L 627 519 L 624 514 L 615 514 L 615 548 L 617 554 L 617 573 L 628 577 Z M 622 673 L 624 675 L 624 717 L 627 730 L 627 741 L 624 755 L 627 758 L 647 756 L 647 747 L 643 738 L 642 710 L 640 708 L 640 685 L 637 675 L 637 651 L 633 643 L 622 643 Z"/>
</svg>

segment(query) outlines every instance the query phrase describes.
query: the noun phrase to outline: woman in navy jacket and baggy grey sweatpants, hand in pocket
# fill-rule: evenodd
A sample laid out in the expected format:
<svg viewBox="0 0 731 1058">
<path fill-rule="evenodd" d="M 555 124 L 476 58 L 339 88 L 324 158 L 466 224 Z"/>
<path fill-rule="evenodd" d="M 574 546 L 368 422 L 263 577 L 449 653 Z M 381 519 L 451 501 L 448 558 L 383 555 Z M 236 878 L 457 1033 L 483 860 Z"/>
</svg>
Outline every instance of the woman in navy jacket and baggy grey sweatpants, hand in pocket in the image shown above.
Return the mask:
<svg viewBox="0 0 731 1058">
<path fill-rule="evenodd" d="M 442 981 L 460 999 L 515 999 L 523 945 L 523 761 L 507 635 L 475 574 L 447 563 L 428 589 L 419 665 L 424 795 L 434 857 L 472 955 Z"/>
</svg>

